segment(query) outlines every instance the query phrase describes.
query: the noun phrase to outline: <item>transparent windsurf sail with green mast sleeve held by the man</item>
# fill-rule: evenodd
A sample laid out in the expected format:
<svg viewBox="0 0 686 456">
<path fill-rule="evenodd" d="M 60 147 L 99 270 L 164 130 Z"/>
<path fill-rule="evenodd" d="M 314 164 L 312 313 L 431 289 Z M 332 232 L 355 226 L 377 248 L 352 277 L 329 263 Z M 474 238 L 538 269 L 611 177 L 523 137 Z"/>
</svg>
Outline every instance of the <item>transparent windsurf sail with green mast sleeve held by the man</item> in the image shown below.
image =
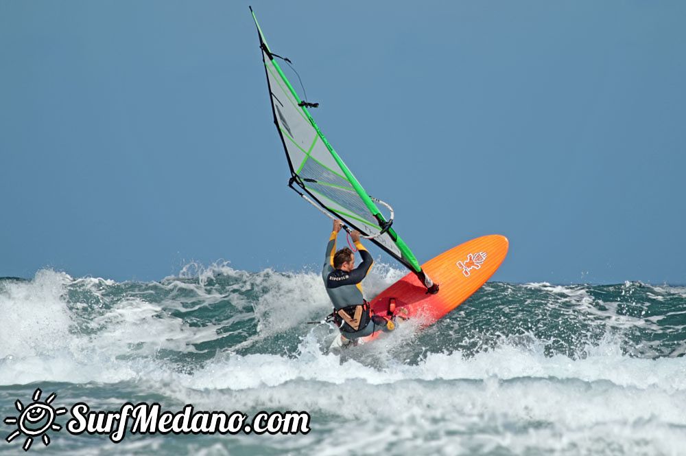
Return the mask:
<svg viewBox="0 0 686 456">
<path fill-rule="evenodd" d="M 391 227 L 392 207 L 369 196 L 329 144 L 307 109 L 316 107 L 316 104 L 300 99 L 277 61 L 289 60 L 271 51 L 252 8 L 250 12 L 259 36 L 274 124 L 291 172 L 289 187 L 324 214 L 340 218 L 347 225 L 346 229 L 350 227 L 360 231 L 364 237 L 416 273 L 427 289 L 435 292 L 437 286 L 425 275 L 410 247 Z M 388 219 L 381 213 L 377 203 L 390 210 Z"/>
</svg>

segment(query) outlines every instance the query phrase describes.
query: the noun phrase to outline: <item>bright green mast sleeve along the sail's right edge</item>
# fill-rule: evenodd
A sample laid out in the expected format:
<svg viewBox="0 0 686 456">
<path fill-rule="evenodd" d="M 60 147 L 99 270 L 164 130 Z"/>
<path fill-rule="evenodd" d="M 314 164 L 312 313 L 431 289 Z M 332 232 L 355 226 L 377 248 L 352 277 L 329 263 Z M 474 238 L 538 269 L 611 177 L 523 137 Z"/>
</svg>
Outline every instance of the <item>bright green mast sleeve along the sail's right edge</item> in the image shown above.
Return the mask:
<svg viewBox="0 0 686 456">
<path fill-rule="evenodd" d="M 257 16 L 255 16 L 255 12 L 252 11 L 252 19 L 255 20 L 255 25 L 257 25 L 257 30 L 259 32 L 259 35 L 261 37 L 262 43 L 264 43 L 265 47 L 267 48 L 268 52 L 271 52 L 269 49 L 269 46 L 267 45 L 267 40 L 264 37 L 264 34 L 262 33 L 262 29 L 259 26 L 259 23 L 257 22 Z M 276 71 L 279 73 L 279 76 L 281 77 L 281 80 L 286 84 L 286 87 L 288 88 L 289 92 L 293 95 L 293 98 L 298 102 L 298 105 L 302 100 L 300 100 L 300 97 L 298 96 L 298 93 L 295 91 L 293 86 L 291 85 L 290 81 L 288 78 L 286 78 L 286 75 L 283 73 L 283 70 L 279 66 L 279 63 L 276 62 L 276 60 L 272 59 L 271 60 L 272 65 L 274 65 L 274 68 Z M 327 140 L 327 137 L 324 136 L 324 133 L 319 129 L 319 126 L 317 123 L 314 121 L 314 118 L 310 115 L 309 111 L 307 111 L 307 108 L 305 106 L 298 106 L 300 109 L 305 113 L 305 116 L 307 117 L 307 120 L 311 124 L 312 128 L 317 132 L 318 137 L 322 140 L 322 143 L 324 143 L 324 146 L 327 147 L 327 150 L 329 150 L 329 153 L 331 154 L 331 157 L 335 160 L 335 162 L 338 164 L 338 166 L 341 168 L 343 174 L 345 174 L 347 181 L 353 186 L 353 189 L 355 189 L 355 192 L 359 195 L 359 198 L 362 199 L 362 202 L 364 205 L 367 207 L 369 212 L 372 213 L 373 216 L 378 216 L 383 222 L 386 222 L 386 218 L 381 214 L 381 211 L 379 211 L 379 208 L 377 205 L 375 205 L 374 201 L 369 197 L 367 192 L 364 190 L 364 187 L 362 187 L 362 184 L 360 184 L 357 179 L 355 179 L 355 176 L 353 176 L 353 173 L 351 170 L 348 169 L 348 166 L 344 163 L 344 161 L 338 156 L 338 153 L 335 152 L 333 149 L 333 146 L 329 144 L 329 141 Z M 307 152 L 306 152 L 307 155 Z M 306 157 L 307 159 L 307 157 Z M 303 162 L 304 163 L 304 162 Z M 302 166 L 300 167 L 302 168 Z M 398 249 L 401 251 L 401 256 L 405 262 L 407 262 L 408 266 L 411 266 L 411 269 L 414 270 L 415 272 L 420 272 L 421 271 L 421 265 L 417 261 L 417 259 L 414 256 L 414 253 L 410 250 L 410 247 L 407 247 L 407 244 L 405 244 L 405 241 L 398 236 L 398 234 L 392 229 L 388 229 L 388 233 L 390 234 L 391 238 L 393 239 L 393 242 L 397 245 Z"/>
</svg>

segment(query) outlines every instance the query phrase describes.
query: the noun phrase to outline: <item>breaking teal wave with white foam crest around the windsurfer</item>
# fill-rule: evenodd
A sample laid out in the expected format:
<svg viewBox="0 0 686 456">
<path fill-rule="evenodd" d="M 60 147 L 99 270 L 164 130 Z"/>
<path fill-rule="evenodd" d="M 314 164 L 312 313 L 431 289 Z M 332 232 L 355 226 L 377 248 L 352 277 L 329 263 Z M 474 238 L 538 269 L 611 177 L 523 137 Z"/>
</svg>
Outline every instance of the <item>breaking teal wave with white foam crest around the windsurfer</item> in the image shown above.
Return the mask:
<svg viewBox="0 0 686 456">
<path fill-rule="evenodd" d="M 307 324 L 330 306 L 317 273 L 194 267 L 161 282 L 50 270 L 28 282 L 0 282 L 0 384 L 176 378 L 189 388 L 245 389 L 298 378 L 495 376 L 665 391 L 686 385 L 686 314 L 670 305 L 680 292 L 669 286 L 490 283 L 424 332 L 408 325 L 359 347 L 347 362 L 358 364 L 353 369 L 335 367 L 338 358 L 325 354 L 333 328 Z M 401 276 L 390 266 L 377 270 L 370 277 L 376 293 Z"/>
</svg>

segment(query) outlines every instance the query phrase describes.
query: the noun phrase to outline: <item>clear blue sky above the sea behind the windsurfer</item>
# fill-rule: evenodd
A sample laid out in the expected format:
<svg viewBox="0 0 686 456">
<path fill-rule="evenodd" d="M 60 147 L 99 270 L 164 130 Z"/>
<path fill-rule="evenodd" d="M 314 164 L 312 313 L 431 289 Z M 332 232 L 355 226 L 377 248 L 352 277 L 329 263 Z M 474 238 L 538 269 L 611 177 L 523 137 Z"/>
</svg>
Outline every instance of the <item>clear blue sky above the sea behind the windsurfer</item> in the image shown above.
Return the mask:
<svg viewBox="0 0 686 456">
<path fill-rule="evenodd" d="M 421 261 L 501 233 L 495 280 L 686 282 L 683 1 L 252 7 Z M 248 3 L 5 0 L 0 43 L 0 276 L 320 264 Z"/>
</svg>

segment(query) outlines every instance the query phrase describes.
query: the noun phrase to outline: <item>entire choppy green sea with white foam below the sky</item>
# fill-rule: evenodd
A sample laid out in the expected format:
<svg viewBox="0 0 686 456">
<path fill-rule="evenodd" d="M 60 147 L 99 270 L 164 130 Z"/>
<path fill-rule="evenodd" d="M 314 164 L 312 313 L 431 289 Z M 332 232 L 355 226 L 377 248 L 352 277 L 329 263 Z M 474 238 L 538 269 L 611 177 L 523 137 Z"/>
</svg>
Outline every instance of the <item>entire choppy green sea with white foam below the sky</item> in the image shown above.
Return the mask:
<svg viewBox="0 0 686 456">
<path fill-rule="evenodd" d="M 373 297 L 404 274 L 383 264 Z M 489 282 L 446 318 L 329 354 L 316 272 L 189 267 L 161 282 L 51 270 L 0 280 L 0 418 L 55 392 L 69 409 L 307 411 L 296 435 L 71 435 L 34 454 L 678 455 L 686 287 Z M 24 454 L 27 435 L 0 453 Z"/>
</svg>

